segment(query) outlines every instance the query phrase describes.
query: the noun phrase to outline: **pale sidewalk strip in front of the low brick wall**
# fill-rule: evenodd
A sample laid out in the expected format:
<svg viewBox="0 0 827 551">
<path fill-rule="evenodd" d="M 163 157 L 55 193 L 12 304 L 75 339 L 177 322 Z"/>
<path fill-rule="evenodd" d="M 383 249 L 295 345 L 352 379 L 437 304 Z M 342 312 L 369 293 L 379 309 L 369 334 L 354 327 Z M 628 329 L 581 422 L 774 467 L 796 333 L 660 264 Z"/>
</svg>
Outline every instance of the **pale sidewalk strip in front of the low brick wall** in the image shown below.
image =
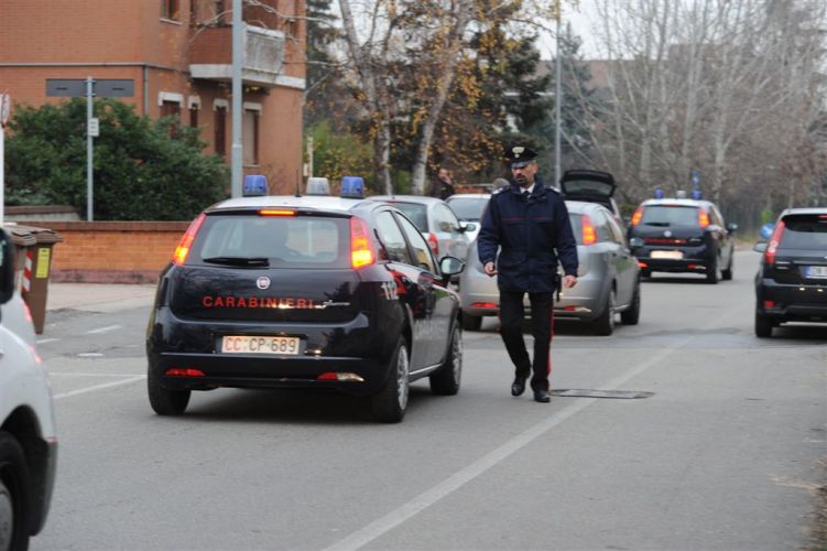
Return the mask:
<svg viewBox="0 0 827 551">
<path fill-rule="evenodd" d="M 154 298 L 154 284 L 50 283 L 46 311 L 117 312 L 150 306 Z"/>
</svg>

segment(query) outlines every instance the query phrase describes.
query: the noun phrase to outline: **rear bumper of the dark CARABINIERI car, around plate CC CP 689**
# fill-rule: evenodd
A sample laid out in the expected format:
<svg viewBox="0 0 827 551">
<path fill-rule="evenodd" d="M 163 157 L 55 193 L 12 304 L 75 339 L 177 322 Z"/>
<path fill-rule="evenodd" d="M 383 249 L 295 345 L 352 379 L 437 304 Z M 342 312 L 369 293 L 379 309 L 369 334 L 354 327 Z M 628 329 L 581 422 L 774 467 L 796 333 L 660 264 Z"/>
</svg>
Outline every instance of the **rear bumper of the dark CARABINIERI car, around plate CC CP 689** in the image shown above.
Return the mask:
<svg viewBox="0 0 827 551">
<path fill-rule="evenodd" d="M 161 309 L 148 338 L 146 356 L 151 374 L 173 390 L 313 387 L 370 395 L 387 380 L 401 332 L 401 321 L 383 318 L 378 323 L 364 314 L 344 324 L 279 323 L 268 327 L 182 321 L 168 309 Z M 247 334 L 298 336 L 302 347 L 297 355 L 221 352 L 222 335 Z M 171 376 L 170 369 L 194 369 L 203 375 Z M 340 377 L 318 380 L 325 374 Z"/>
</svg>

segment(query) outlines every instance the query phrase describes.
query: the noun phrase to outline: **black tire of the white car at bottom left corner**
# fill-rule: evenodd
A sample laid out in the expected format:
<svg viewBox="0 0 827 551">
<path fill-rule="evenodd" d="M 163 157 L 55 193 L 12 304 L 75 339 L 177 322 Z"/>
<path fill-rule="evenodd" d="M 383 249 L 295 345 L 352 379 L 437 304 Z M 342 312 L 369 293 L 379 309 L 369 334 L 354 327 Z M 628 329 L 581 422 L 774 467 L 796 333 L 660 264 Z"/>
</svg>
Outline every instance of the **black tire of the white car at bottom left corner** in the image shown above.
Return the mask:
<svg viewBox="0 0 827 551">
<path fill-rule="evenodd" d="M 0 431 L 0 549 L 29 548 L 31 487 L 23 449 L 14 436 Z"/>
</svg>

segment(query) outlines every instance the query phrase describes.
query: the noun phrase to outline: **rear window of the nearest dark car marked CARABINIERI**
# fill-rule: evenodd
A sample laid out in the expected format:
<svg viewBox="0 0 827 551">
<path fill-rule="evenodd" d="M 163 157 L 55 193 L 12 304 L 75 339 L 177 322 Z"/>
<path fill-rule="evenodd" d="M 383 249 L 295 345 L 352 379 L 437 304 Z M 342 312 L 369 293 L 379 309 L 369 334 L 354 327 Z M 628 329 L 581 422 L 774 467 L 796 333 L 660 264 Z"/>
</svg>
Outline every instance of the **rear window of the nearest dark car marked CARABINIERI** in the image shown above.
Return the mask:
<svg viewBox="0 0 827 551">
<path fill-rule="evenodd" d="M 346 217 L 211 215 L 193 244 L 191 259 L 266 259 L 271 267 L 347 268 Z M 226 263 L 226 262 L 225 262 Z"/>
</svg>

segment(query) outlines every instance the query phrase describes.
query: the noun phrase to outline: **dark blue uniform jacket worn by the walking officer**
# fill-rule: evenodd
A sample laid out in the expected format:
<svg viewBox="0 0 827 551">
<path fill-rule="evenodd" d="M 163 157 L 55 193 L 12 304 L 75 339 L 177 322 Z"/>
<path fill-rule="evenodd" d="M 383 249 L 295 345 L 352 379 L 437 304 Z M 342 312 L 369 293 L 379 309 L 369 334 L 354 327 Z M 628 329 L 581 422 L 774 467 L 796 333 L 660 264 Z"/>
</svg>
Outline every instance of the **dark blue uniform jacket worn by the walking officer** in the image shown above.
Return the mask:
<svg viewBox="0 0 827 551">
<path fill-rule="evenodd" d="M 577 276 L 577 241 L 568 209 L 561 194 L 540 179 L 527 197 L 513 182 L 491 195 L 477 250 L 482 266 L 497 262 L 501 291 L 554 292 L 558 259 L 566 276 Z"/>
</svg>

